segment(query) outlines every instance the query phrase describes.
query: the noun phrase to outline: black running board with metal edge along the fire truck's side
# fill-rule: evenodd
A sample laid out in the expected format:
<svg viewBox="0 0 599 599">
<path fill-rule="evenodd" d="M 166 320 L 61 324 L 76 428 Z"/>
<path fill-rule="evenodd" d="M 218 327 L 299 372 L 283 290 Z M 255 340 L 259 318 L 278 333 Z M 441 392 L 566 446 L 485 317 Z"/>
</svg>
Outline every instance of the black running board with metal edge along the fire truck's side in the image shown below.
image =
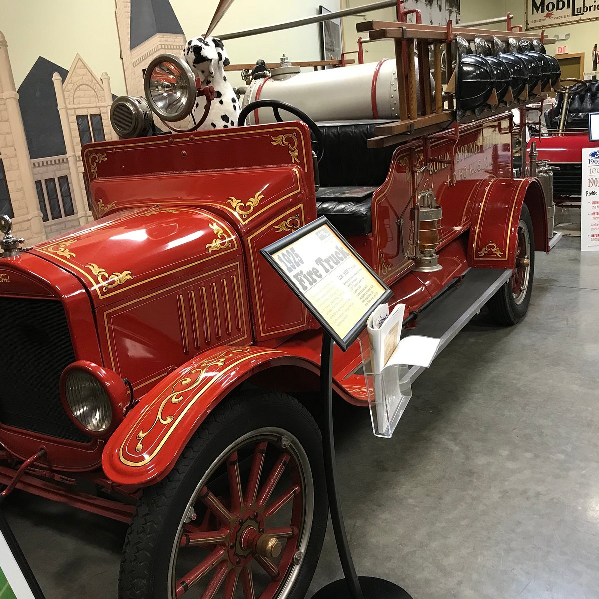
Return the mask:
<svg viewBox="0 0 599 599">
<path fill-rule="evenodd" d="M 462 283 L 446 291 L 418 316 L 415 329 L 404 330 L 403 337 L 422 335 L 440 339 L 437 358 L 511 276 L 512 270 L 471 268 Z M 410 381 L 413 383 L 425 370 L 421 366 L 411 367 Z"/>
</svg>

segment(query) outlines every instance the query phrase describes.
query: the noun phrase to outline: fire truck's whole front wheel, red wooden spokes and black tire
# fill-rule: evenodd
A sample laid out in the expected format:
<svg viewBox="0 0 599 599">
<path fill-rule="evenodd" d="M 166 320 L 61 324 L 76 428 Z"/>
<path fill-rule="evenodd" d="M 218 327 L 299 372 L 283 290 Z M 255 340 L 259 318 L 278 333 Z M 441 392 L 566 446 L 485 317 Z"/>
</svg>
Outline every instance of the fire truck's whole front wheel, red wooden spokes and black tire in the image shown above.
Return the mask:
<svg viewBox="0 0 599 599">
<path fill-rule="evenodd" d="M 144 493 L 119 597 L 299 599 L 327 517 L 322 441 L 307 410 L 282 394 L 234 398 Z"/>
</svg>

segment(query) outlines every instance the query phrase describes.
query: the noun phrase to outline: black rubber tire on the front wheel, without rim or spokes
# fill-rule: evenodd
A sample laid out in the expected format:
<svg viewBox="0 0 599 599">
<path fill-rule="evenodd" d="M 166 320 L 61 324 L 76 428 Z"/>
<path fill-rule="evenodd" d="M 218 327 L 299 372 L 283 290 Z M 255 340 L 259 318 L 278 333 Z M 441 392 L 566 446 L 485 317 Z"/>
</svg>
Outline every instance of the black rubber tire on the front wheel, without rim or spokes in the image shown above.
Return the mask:
<svg viewBox="0 0 599 599">
<path fill-rule="evenodd" d="M 310 461 L 314 518 L 301 570 L 288 595 L 290 599 L 304 599 L 318 564 L 328 521 L 322 438 L 310 412 L 297 400 L 260 389 L 232 395 L 220 404 L 195 432 L 168 476 L 144 490 L 123 546 L 119 599 L 171 599 L 168 565 L 187 502 L 226 447 L 265 426 L 291 432 Z"/>
</svg>

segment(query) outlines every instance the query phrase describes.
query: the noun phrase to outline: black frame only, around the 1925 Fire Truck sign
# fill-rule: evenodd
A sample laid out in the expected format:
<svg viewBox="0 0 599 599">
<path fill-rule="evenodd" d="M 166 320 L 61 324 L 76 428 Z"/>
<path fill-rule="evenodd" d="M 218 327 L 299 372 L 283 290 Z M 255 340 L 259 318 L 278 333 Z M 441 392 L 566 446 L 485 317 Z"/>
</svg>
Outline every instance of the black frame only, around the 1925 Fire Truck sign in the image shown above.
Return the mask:
<svg viewBox="0 0 599 599">
<path fill-rule="evenodd" d="M 302 237 L 305 237 L 305 235 L 308 235 L 311 232 L 316 231 L 316 229 L 319 229 L 323 225 L 326 225 L 331 229 L 333 234 L 336 235 L 341 244 L 343 244 L 344 249 L 351 253 L 351 255 L 362 265 L 362 267 L 365 268 L 365 270 L 368 271 L 368 273 L 383 288 L 383 293 L 379 295 L 376 301 L 368 308 L 368 311 L 362 315 L 359 321 L 353 326 L 353 328 L 349 331 L 349 333 L 347 333 L 347 335 L 344 338 L 341 338 L 340 335 L 337 334 L 335 329 L 333 329 L 332 326 L 329 325 L 326 318 L 317 310 L 316 306 L 314 306 L 312 302 L 307 297 L 305 297 L 305 295 L 303 295 L 301 291 L 299 291 L 299 289 L 297 289 L 295 284 L 292 282 L 291 277 L 288 276 L 288 273 L 286 273 L 285 270 L 283 270 L 283 268 L 281 267 L 281 265 L 278 262 L 276 262 L 273 258 L 273 254 L 276 254 L 277 252 L 280 252 L 280 250 L 283 250 L 286 247 L 291 246 L 291 244 L 295 243 L 295 241 L 297 241 L 298 239 L 301 239 Z M 360 336 L 362 331 L 364 331 L 368 317 L 370 317 L 370 314 L 373 313 L 373 310 L 377 308 L 380 304 L 383 304 L 384 302 L 388 301 L 393 297 L 393 292 L 391 291 L 391 289 L 389 289 L 389 287 L 385 284 L 385 282 L 383 282 L 379 275 L 377 275 L 374 272 L 373 268 L 371 268 L 371 266 L 364 260 L 364 258 L 362 258 L 362 256 L 360 256 L 358 252 L 356 252 L 356 250 L 353 249 L 351 244 L 347 242 L 346 238 L 344 238 L 343 235 L 341 235 L 341 233 L 331 224 L 331 222 L 326 218 L 326 216 L 321 216 L 319 219 L 316 219 L 313 222 L 308 223 L 308 225 L 302 226 L 300 229 L 297 229 L 297 231 L 294 231 L 291 234 L 286 235 L 279 241 L 275 241 L 274 243 L 271 243 L 270 245 L 263 247 L 260 250 L 260 253 L 274 268 L 274 271 L 283 279 L 283 281 L 285 281 L 285 283 L 289 286 L 289 289 L 291 289 L 291 291 L 293 291 L 294 294 L 297 295 L 299 301 L 301 301 L 302 304 L 305 305 L 305 307 L 308 309 L 308 311 L 310 311 L 314 318 L 318 320 L 322 328 L 325 329 L 325 331 L 334 339 L 335 343 L 337 343 L 337 345 L 341 347 L 341 349 L 344 352 L 346 352 L 347 349 L 349 349 L 349 346 L 354 341 L 356 341 L 356 339 Z"/>
</svg>

